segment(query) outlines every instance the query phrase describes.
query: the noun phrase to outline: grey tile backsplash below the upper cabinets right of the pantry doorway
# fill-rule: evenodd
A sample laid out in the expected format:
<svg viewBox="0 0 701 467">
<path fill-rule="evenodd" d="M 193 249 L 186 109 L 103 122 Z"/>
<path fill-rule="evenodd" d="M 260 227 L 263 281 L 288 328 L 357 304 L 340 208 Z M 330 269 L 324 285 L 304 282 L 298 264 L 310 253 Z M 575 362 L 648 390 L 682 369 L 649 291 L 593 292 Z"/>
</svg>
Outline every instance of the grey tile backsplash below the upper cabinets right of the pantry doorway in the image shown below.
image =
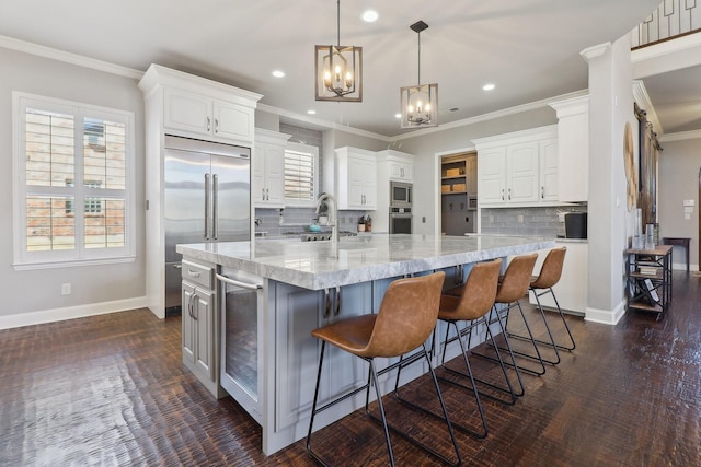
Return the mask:
<svg viewBox="0 0 701 467">
<path fill-rule="evenodd" d="M 498 235 L 538 235 L 556 237 L 565 234 L 560 213 L 587 212 L 587 206 L 482 209 L 482 233 Z"/>
</svg>

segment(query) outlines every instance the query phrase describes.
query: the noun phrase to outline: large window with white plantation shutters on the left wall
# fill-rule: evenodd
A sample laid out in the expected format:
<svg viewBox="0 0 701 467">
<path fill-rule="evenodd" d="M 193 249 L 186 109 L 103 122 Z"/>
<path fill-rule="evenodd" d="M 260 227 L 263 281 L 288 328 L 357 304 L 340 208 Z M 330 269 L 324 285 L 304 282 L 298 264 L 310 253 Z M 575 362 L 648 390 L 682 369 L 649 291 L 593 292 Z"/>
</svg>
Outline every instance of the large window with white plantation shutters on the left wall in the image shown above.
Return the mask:
<svg viewBox="0 0 701 467">
<path fill-rule="evenodd" d="M 134 115 L 14 93 L 16 267 L 134 256 Z"/>
</svg>

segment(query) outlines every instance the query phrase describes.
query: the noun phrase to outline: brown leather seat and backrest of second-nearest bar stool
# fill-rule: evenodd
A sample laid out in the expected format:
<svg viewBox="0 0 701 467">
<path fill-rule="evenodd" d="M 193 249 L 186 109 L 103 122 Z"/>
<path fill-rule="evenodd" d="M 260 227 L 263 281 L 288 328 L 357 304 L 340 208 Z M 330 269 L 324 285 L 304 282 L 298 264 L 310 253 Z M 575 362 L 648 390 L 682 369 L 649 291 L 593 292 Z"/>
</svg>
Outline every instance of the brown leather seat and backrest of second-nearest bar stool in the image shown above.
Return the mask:
<svg viewBox="0 0 701 467">
<path fill-rule="evenodd" d="M 484 316 L 494 305 L 502 259 L 478 262 L 464 283 L 453 319 L 473 320 Z"/>
</svg>

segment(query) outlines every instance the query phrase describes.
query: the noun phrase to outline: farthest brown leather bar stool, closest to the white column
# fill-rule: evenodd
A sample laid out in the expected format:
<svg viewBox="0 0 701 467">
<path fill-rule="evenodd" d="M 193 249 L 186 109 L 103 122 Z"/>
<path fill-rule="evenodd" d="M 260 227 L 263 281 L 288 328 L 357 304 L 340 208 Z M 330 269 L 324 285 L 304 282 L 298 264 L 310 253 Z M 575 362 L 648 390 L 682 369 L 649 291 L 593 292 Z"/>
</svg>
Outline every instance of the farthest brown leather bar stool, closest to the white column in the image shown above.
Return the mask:
<svg viewBox="0 0 701 467">
<path fill-rule="evenodd" d="M 558 352 L 558 349 L 572 351 L 576 347 L 574 337 L 572 336 L 572 331 L 570 330 L 570 326 L 567 326 L 567 322 L 565 319 L 564 314 L 562 313 L 562 308 L 560 308 L 560 303 L 558 302 L 555 292 L 552 290 L 552 288 L 558 284 L 558 282 L 560 281 L 560 278 L 562 277 L 562 267 L 565 261 L 565 253 L 567 253 L 567 248 L 564 246 L 559 248 L 553 248 L 550 252 L 548 252 L 548 256 L 545 256 L 545 260 L 543 261 L 543 265 L 540 268 L 540 273 L 538 276 L 533 276 L 530 282 L 530 290 L 533 292 L 533 295 L 536 296 L 538 308 L 540 310 L 540 314 L 542 316 L 543 323 L 545 324 L 545 330 L 548 331 L 548 337 L 550 338 L 550 341 L 536 339 L 536 342 L 553 348 L 555 352 L 555 360 L 551 361 L 551 360 L 543 359 L 544 362 L 552 363 L 552 364 L 560 363 L 560 353 Z M 560 314 L 560 318 L 562 319 L 564 330 L 567 332 L 570 343 L 561 345 L 555 342 L 552 328 L 548 323 L 547 315 L 543 311 L 543 306 L 540 303 L 540 297 L 548 293 L 552 295 L 552 299 L 555 302 L 555 306 L 558 307 L 558 313 Z M 510 332 L 509 332 L 509 337 L 526 339 L 526 336 L 510 334 Z"/>
</svg>

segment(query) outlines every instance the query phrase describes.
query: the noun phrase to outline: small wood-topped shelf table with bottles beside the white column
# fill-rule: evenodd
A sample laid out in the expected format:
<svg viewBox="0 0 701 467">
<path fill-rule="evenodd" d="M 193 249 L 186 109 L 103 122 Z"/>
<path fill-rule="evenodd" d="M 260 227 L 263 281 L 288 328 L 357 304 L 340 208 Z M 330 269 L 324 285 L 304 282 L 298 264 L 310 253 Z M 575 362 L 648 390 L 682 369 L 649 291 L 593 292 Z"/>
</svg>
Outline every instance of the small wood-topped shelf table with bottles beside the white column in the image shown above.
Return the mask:
<svg viewBox="0 0 701 467">
<path fill-rule="evenodd" d="M 629 248 L 624 254 L 627 311 L 656 313 L 660 319 L 671 300 L 671 245 Z"/>
</svg>

